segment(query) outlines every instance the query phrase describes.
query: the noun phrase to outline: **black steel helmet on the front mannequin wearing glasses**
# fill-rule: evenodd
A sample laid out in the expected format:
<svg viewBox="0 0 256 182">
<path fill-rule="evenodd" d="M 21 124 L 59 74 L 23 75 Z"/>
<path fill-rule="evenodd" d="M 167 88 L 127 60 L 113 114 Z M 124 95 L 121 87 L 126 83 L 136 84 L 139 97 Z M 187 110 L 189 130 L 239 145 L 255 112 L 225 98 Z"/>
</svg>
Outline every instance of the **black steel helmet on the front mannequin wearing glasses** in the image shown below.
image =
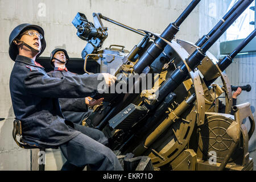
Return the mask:
<svg viewBox="0 0 256 182">
<path fill-rule="evenodd" d="M 18 51 L 18 47 L 14 44 L 13 41 L 20 35 L 21 32 L 23 32 L 24 30 L 28 30 L 29 28 L 35 29 L 40 34 L 43 35 L 43 39 L 40 40 L 42 44 L 42 48 L 36 57 L 39 57 L 44 52 L 44 49 L 46 49 L 46 39 L 44 39 L 44 30 L 42 27 L 35 24 L 29 24 L 29 23 L 20 24 L 19 26 L 16 26 L 14 28 L 14 30 L 11 32 L 9 36 L 9 56 L 14 61 L 16 59 L 16 56 L 19 54 L 19 51 Z"/>
</svg>

